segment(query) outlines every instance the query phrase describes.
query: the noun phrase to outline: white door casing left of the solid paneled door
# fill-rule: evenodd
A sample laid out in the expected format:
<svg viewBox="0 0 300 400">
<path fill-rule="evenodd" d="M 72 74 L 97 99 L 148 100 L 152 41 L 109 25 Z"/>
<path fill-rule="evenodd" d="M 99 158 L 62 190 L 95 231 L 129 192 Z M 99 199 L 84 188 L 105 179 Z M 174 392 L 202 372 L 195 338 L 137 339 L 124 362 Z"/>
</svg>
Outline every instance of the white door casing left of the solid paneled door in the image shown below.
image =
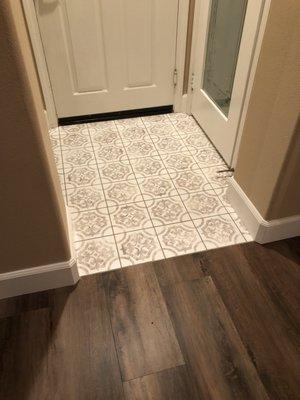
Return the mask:
<svg viewBox="0 0 300 400">
<path fill-rule="evenodd" d="M 56 108 L 48 74 L 46 58 L 40 36 L 39 25 L 33 0 L 22 0 L 25 19 L 32 44 L 33 54 L 41 82 L 42 92 L 46 106 L 46 118 L 49 128 L 56 128 L 58 125 Z"/>
</svg>

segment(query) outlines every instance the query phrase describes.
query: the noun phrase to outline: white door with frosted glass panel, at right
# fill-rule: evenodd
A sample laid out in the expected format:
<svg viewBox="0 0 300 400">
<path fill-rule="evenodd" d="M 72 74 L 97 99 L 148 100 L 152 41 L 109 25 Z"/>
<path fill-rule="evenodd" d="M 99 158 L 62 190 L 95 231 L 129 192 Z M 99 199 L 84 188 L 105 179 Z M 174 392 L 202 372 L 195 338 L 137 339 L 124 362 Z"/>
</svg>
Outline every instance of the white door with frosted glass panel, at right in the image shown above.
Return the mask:
<svg viewBox="0 0 300 400">
<path fill-rule="evenodd" d="M 264 0 L 196 0 L 191 112 L 231 166 Z"/>
</svg>

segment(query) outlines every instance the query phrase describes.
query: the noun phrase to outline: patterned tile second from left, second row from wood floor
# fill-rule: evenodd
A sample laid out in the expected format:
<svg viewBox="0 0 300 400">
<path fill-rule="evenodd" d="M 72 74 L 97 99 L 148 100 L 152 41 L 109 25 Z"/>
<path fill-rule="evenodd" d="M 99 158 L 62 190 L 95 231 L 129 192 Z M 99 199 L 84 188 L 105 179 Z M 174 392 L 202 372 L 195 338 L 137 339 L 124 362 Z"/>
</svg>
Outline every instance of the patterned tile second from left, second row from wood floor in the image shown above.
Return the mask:
<svg viewBox="0 0 300 400">
<path fill-rule="evenodd" d="M 143 202 L 109 207 L 114 233 L 152 228 L 152 222 Z"/>
</svg>

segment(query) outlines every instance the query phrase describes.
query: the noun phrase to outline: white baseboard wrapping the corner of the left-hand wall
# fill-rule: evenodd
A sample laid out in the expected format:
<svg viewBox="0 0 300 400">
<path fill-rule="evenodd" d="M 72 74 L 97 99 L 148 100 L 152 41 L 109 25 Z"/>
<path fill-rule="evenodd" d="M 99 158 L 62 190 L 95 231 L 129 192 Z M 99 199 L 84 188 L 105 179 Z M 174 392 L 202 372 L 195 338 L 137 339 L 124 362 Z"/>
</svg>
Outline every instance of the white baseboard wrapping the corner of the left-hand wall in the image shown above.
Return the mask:
<svg viewBox="0 0 300 400">
<path fill-rule="evenodd" d="M 0 274 L 0 299 L 74 285 L 79 280 L 73 249 L 72 225 L 68 215 L 70 260 Z"/>
</svg>

